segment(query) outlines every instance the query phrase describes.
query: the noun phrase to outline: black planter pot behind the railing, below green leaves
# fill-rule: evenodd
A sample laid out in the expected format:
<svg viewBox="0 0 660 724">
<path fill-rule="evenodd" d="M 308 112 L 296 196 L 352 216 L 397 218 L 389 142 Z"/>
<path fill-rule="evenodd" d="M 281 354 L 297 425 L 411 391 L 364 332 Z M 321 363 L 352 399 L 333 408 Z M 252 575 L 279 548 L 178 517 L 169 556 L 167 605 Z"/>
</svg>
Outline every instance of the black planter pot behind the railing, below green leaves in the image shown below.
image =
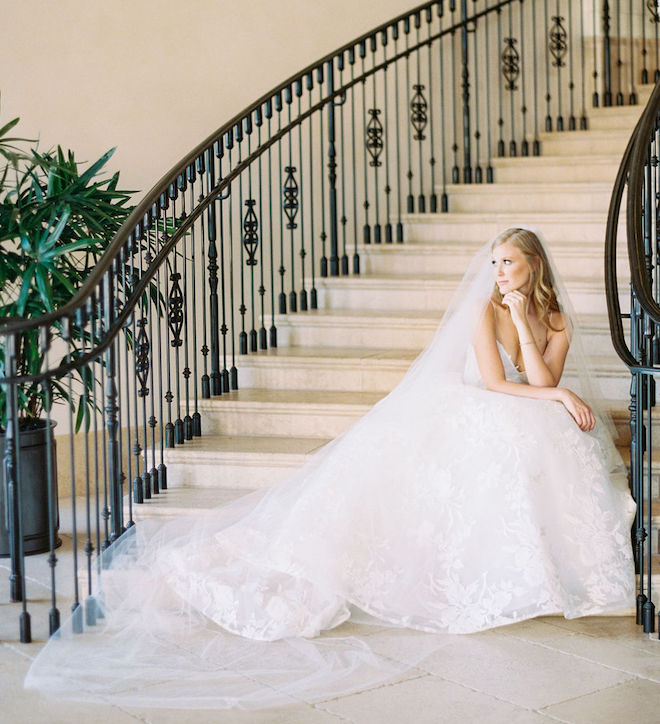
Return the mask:
<svg viewBox="0 0 660 724">
<path fill-rule="evenodd" d="M 47 450 L 48 437 L 51 439 L 51 480 L 53 483 L 53 526 L 55 546 L 61 544 L 57 538 L 59 514 L 57 506 L 57 456 L 55 454 L 55 436 L 53 430 L 57 423 L 41 421 L 40 427 L 21 430 L 19 434 L 19 468 L 21 471 L 21 507 L 23 510 L 23 552 L 44 553 L 50 548 L 48 525 L 48 475 Z M 0 462 L 5 456 L 5 436 L 0 436 Z M 9 531 L 6 526 L 5 466 L 0 465 L 0 558 L 9 556 Z"/>
</svg>

